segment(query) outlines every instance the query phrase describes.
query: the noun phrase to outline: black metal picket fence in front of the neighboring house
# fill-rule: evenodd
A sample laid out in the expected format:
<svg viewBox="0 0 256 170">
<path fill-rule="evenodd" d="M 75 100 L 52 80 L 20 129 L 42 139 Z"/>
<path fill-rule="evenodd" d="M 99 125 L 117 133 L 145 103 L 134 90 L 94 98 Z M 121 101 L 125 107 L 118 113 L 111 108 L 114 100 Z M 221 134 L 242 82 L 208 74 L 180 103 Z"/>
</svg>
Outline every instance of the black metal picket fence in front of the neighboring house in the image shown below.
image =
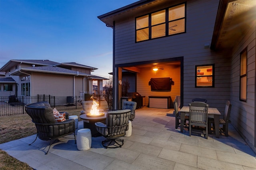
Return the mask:
<svg viewBox="0 0 256 170">
<path fill-rule="evenodd" d="M 18 114 L 26 114 L 25 105 L 36 102 L 49 102 L 52 108 L 59 111 L 65 110 L 82 110 L 82 102 L 84 100 L 91 100 L 91 96 L 8 96 L 0 97 L 0 116 L 10 116 Z M 104 95 L 95 95 L 94 100 L 97 100 L 99 106 L 102 108 L 108 107 Z"/>
</svg>

